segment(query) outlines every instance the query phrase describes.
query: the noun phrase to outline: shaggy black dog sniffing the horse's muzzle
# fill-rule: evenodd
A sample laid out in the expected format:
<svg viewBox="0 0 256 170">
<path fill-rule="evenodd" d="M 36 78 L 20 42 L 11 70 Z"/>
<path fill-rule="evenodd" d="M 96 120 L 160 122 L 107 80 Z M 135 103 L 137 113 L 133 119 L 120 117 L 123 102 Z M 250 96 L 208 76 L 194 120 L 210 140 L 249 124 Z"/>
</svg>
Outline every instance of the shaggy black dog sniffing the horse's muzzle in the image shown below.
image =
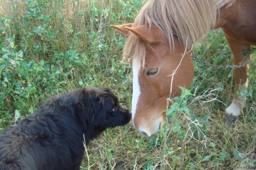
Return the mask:
<svg viewBox="0 0 256 170">
<path fill-rule="evenodd" d="M 79 170 L 86 143 L 131 113 L 110 90 L 84 88 L 47 100 L 0 135 L 0 170 Z"/>
</svg>

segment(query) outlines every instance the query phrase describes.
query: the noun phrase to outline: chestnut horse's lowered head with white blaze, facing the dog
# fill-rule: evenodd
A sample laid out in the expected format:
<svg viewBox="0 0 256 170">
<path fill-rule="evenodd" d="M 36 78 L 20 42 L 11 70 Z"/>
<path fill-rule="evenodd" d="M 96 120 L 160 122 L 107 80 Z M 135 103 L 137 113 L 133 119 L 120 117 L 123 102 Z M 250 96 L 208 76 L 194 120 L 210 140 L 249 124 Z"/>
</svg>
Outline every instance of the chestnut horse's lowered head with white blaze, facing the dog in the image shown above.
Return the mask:
<svg viewBox="0 0 256 170">
<path fill-rule="evenodd" d="M 111 26 L 129 34 L 126 41 L 134 41 L 134 45 L 130 45 L 133 72 L 132 121 L 143 136 L 151 137 L 158 133 L 164 123 L 166 98 L 180 95 L 178 86 L 190 86 L 194 76 L 192 59 L 188 54 L 182 59 L 186 49 L 176 38 L 175 48 L 171 51 L 164 32 L 154 24 L 151 27 L 132 27 L 132 24 Z M 143 55 L 140 48 L 144 48 L 144 57 L 140 56 Z M 177 67 L 172 80 L 171 74 Z"/>
</svg>

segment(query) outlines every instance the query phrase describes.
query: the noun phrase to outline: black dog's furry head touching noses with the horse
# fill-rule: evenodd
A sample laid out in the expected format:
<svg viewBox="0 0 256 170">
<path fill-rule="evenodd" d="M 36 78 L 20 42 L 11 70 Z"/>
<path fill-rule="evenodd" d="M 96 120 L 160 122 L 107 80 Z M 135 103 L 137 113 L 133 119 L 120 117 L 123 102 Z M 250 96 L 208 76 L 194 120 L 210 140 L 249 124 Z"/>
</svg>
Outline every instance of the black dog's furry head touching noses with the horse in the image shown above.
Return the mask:
<svg viewBox="0 0 256 170">
<path fill-rule="evenodd" d="M 98 135 L 108 127 L 123 126 L 130 121 L 131 111 L 120 106 L 112 91 L 94 87 L 83 90 L 82 101 L 75 104 L 75 111 L 86 131 Z"/>
</svg>

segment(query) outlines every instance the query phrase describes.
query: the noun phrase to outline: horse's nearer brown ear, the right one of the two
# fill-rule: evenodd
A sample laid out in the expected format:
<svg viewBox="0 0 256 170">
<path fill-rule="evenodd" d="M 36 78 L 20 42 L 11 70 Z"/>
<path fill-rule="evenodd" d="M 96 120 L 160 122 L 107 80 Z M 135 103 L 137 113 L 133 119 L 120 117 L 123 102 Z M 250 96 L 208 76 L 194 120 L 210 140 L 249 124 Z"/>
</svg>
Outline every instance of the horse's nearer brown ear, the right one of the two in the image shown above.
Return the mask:
<svg viewBox="0 0 256 170">
<path fill-rule="evenodd" d="M 159 43 L 163 39 L 163 32 L 156 25 L 139 25 L 136 27 L 125 27 L 128 31 L 134 33 L 140 39 L 147 43 Z"/>
</svg>

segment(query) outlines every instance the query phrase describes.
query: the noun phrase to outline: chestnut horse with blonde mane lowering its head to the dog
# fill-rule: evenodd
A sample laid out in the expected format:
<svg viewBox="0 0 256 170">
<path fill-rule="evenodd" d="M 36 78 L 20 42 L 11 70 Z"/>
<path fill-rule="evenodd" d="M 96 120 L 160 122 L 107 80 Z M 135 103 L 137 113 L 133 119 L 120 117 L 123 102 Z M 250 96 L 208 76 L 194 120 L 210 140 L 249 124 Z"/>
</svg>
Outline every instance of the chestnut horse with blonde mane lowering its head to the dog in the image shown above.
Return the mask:
<svg viewBox="0 0 256 170">
<path fill-rule="evenodd" d="M 234 64 L 250 60 L 250 45 L 256 45 L 256 0 L 149 0 L 134 23 L 111 26 L 127 35 L 124 59 L 133 71 L 132 120 L 150 137 L 163 125 L 166 98 L 180 95 L 178 86 L 189 88 L 194 68 L 188 52 L 207 31 L 222 28 Z M 237 119 L 245 106 L 246 99 L 236 91 L 248 87 L 248 68 L 234 69 L 227 120 Z"/>
</svg>

